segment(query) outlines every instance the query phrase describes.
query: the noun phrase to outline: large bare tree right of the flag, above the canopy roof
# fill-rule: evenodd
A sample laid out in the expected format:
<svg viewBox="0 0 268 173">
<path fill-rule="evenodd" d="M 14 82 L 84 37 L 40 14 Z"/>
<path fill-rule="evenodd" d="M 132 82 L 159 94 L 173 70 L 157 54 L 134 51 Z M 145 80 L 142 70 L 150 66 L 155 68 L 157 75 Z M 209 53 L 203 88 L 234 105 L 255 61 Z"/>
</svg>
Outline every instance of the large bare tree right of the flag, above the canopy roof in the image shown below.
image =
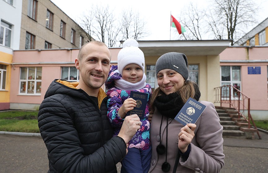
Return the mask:
<svg viewBox="0 0 268 173">
<path fill-rule="evenodd" d="M 256 23 L 257 7 L 252 0 L 214 0 L 213 11 L 209 26 L 216 38 L 231 39 L 231 45 L 244 35 L 248 25 Z"/>
</svg>

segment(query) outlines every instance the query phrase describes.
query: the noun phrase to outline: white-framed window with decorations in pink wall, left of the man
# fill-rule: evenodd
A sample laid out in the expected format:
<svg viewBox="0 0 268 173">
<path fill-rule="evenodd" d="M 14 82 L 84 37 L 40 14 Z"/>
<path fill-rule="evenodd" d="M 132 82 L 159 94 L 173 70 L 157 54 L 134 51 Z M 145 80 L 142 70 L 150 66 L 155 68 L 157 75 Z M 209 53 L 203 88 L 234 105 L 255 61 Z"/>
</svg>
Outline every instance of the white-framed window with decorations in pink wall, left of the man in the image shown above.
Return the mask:
<svg viewBox="0 0 268 173">
<path fill-rule="evenodd" d="M 42 67 L 20 68 L 20 94 L 41 95 Z"/>
</svg>

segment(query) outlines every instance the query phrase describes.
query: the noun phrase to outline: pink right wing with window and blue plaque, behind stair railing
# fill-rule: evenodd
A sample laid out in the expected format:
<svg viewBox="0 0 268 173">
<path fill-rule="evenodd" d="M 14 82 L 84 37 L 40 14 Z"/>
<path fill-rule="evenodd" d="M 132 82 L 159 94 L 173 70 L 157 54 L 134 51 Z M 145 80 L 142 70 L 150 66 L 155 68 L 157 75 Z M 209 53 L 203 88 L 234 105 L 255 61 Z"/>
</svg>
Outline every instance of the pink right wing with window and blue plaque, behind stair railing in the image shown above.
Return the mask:
<svg viewBox="0 0 268 173">
<path fill-rule="evenodd" d="M 220 69 L 221 86 L 232 85 L 250 98 L 254 120 L 268 120 L 268 47 L 228 47 L 220 54 Z M 227 92 L 237 100 L 235 90 Z"/>
</svg>

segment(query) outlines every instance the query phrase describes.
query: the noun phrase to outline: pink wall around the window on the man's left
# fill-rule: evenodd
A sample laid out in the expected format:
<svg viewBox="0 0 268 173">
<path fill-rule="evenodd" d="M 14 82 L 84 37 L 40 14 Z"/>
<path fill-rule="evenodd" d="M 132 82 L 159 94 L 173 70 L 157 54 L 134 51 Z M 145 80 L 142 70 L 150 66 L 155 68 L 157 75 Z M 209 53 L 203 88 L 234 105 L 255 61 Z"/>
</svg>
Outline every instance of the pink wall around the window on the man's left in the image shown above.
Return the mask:
<svg viewBox="0 0 268 173">
<path fill-rule="evenodd" d="M 111 61 L 117 61 L 117 54 L 121 48 L 111 48 Z M 74 66 L 79 49 L 71 50 L 42 50 L 42 51 L 14 51 L 13 63 L 11 68 L 11 103 L 40 104 L 45 96 L 46 90 L 54 79 L 61 78 L 61 67 Z M 49 63 L 55 64 L 49 64 Z M 58 63 L 57 63 L 58 62 Z M 65 62 L 67 64 L 63 64 Z M 17 64 L 21 63 L 21 64 Z M 28 63 L 27 65 L 24 63 Z M 37 64 L 33 64 L 37 63 Z M 38 64 L 44 63 L 44 64 Z M 19 95 L 20 86 L 20 67 L 42 67 L 42 89 L 41 95 Z M 104 86 L 102 87 L 104 88 Z"/>
</svg>

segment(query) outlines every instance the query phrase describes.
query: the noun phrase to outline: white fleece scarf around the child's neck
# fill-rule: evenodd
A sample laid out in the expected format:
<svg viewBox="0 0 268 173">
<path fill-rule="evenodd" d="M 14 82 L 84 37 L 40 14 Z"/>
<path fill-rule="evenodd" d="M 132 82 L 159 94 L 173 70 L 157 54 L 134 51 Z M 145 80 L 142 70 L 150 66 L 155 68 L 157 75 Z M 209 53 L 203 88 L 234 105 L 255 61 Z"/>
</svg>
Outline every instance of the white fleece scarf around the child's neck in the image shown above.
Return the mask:
<svg viewBox="0 0 268 173">
<path fill-rule="evenodd" d="M 119 73 L 119 71 L 115 70 L 114 73 Z M 146 75 L 143 73 L 143 78 L 140 82 L 131 83 L 131 82 L 127 82 L 124 79 L 118 79 L 118 80 L 114 81 L 114 86 L 120 90 L 125 90 L 125 91 L 127 91 L 127 90 L 140 90 L 146 86 L 145 81 L 146 81 Z"/>
</svg>

